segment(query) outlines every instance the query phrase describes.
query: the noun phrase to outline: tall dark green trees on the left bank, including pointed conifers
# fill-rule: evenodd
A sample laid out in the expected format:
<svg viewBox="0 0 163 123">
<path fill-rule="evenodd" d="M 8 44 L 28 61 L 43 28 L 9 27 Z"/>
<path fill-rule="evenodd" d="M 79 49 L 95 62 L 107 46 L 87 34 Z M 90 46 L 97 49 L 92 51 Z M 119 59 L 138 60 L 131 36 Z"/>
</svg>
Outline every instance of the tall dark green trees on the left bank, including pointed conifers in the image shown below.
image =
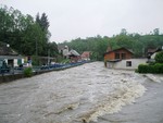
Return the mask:
<svg viewBox="0 0 163 123">
<path fill-rule="evenodd" d="M 55 42 L 50 42 L 49 21 L 46 13 L 39 13 L 36 19 L 24 15 L 13 8 L 0 8 L 0 41 L 9 44 L 20 54 L 57 56 Z"/>
</svg>

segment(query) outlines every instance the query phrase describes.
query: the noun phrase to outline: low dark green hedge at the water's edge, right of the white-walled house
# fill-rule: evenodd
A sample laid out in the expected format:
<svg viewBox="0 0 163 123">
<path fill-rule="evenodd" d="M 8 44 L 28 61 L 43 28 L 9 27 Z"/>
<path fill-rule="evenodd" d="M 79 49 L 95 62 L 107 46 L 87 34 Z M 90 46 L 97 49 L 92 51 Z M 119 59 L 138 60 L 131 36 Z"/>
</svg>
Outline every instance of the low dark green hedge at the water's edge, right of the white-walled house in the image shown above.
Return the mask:
<svg viewBox="0 0 163 123">
<path fill-rule="evenodd" d="M 153 65 L 140 64 L 138 73 L 163 73 L 163 64 L 155 63 Z"/>
</svg>

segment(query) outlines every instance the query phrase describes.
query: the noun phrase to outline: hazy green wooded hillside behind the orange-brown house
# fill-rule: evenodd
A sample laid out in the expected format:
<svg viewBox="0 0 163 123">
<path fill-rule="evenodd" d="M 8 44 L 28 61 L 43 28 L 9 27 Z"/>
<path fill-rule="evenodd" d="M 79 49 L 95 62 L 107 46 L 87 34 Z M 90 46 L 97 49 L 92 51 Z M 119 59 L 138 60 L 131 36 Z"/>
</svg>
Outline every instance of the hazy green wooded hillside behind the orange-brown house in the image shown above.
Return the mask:
<svg viewBox="0 0 163 123">
<path fill-rule="evenodd" d="M 71 41 L 64 41 L 64 45 L 72 49 L 77 50 L 79 53 L 83 51 L 92 51 L 92 58 L 103 60 L 103 53 L 110 46 L 113 50 L 125 47 L 133 50 L 136 58 L 146 57 L 149 48 L 159 48 L 163 46 L 163 35 L 160 35 L 159 28 L 153 29 L 153 33 L 140 35 L 137 33 L 128 34 L 125 28 L 113 37 L 88 37 L 86 39 L 77 38 Z"/>
</svg>

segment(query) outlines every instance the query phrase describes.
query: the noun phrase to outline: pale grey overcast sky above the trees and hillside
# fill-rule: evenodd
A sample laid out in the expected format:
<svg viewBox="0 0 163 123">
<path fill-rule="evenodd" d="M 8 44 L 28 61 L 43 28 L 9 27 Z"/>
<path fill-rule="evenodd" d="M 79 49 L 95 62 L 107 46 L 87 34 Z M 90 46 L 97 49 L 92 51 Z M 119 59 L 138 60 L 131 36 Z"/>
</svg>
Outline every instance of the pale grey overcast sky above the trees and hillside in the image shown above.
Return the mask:
<svg viewBox="0 0 163 123">
<path fill-rule="evenodd" d="M 34 17 L 46 13 L 51 41 L 128 33 L 163 33 L 163 0 L 0 0 Z"/>
</svg>

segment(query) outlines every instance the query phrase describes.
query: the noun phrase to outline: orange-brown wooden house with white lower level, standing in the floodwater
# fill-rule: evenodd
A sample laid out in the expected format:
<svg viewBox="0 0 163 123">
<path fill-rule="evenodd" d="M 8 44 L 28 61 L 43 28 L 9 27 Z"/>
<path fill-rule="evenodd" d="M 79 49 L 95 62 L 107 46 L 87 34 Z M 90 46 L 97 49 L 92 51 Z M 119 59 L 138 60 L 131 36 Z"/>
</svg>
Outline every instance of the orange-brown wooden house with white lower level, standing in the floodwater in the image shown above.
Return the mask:
<svg viewBox="0 0 163 123">
<path fill-rule="evenodd" d="M 110 69 L 135 70 L 140 63 L 146 63 L 147 59 L 133 59 L 133 51 L 126 48 L 110 50 L 104 53 L 104 65 Z"/>
</svg>

